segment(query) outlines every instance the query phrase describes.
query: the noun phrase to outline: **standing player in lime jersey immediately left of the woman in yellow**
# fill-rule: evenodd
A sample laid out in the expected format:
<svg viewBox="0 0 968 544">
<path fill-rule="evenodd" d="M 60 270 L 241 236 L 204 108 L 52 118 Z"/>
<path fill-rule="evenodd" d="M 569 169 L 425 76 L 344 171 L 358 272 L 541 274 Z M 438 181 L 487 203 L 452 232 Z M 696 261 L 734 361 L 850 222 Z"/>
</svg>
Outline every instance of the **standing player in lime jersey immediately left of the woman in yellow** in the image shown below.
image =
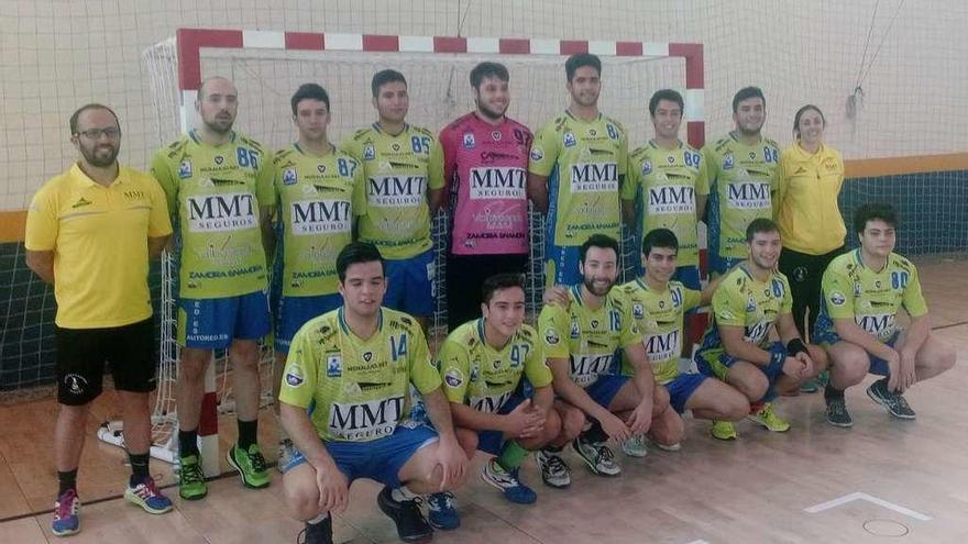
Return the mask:
<svg viewBox="0 0 968 544">
<path fill-rule="evenodd" d="M 733 97 L 736 130 L 703 147 L 710 184 L 710 273 L 726 274 L 746 258 L 746 227 L 757 218 L 771 219 L 773 177 L 780 148 L 760 131 L 767 120 L 767 99 L 758 87 L 744 87 Z"/>
</svg>

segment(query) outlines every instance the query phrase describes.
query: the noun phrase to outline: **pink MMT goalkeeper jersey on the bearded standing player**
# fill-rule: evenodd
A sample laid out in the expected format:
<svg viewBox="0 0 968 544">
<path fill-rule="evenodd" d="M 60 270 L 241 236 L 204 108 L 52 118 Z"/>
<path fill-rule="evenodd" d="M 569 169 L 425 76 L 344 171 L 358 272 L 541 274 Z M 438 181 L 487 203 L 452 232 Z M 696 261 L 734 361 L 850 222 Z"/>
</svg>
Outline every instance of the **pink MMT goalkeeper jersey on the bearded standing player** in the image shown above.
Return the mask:
<svg viewBox="0 0 968 544">
<path fill-rule="evenodd" d="M 492 125 L 468 113 L 440 132 L 430 169 L 449 188 L 451 253 L 528 253 L 530 146 L 531 131 L 507 118 Z"/>
</svg>

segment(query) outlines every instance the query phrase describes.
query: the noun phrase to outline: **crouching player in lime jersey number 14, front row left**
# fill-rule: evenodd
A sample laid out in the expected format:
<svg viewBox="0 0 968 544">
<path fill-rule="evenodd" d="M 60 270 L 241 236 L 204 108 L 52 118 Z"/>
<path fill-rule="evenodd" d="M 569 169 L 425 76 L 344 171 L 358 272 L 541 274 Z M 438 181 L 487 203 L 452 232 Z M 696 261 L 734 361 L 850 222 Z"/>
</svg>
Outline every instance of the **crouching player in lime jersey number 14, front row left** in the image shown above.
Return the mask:
<svg viewBox="0 0 968 544">
<path fill-rule="evenodd" d="M 371 478 L 385 486 L 376 502 L 400 540 L 428 542 L 414 493 L 452 489 L 466 465 L 440 375 L 420 325 L 381 308 L 386 277 L 374 245 L 345 246 L 337 274 L 343 306 L 307 322 L 286 362 L 282 419 L 298 448 L 284 467 L 286 501 L 306 522 L 306 544 L 328 544 L 330 513 L 346 508 L 354 479 Z M 411 384 L 437 432 L 403 423 Z"/>
</svg>

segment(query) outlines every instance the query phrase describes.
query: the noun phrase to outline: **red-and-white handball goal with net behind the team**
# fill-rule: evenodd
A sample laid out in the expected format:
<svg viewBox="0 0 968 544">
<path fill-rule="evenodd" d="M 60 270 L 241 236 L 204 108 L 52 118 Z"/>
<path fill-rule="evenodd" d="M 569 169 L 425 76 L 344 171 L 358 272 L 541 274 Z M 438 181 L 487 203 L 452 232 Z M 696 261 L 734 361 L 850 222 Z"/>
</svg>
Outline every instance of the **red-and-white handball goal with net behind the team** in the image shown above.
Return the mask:
<svg viewBox="0 0 968 544">
<path fill-rule="evenodd" d="M 593 53 L 603 62 L 602 111 L 625 124 L 631 143 L 651 135 L 648 99 L 661 88 L 682 91 L 685 100 L 684 135 L 700 147 L 704 143 L 703 45 L 642 41 L 583 41 L 520 37 L 405 36 L 248 30 L 179 29 L 173 38 L 143 54 L 144 71 L 151 82 L 156 140 L 161 146 L 198 122 L 195 101 L 206 77 L 220 75 L 239 88 L 237 126 L 270 148 L 288 145 L 295 135 L 289 97 L 306 81 L 318 81 L 332 99 L 329 132 L 333 142 L 375 118 L 370 100 L 370 77 L 384 68 L 397 68 L 408 79 L 408 121 L 437 133 L 458 115 L 471 111 L 468 74 L 480 62 L 504 63 L 512 76 L 508 115 L 537 130 L 566 107 L 564 58 L 574 53 Z M 333 137 L 336 135 L 336 137 Z M 152 149 L 154 151 L 154 149 Z M 543 289 L 543 229 L 540 215 L 531 213 L 529 309 L 540 306 Z M 437 311 L 431 338 L 446 330 L 447 286 L 443 285 L 448 221 L 438 214 L 433 222 L 438 248 Z M 627 240 L 627 237 L 626 237 Z M 626 244 L 625 258 L 638 258 Z M 631 251 L 629 254 L 629 249 Z M 178 347 L 174 342 L 175 297 L 172 260 L 165 259 L 163 281 L 162 360 L 160 386 L 168 384 L 172 395 L 177 373 Z M 263 352 L 263 366 L 272 376 L 273 354 Z M 218 365 L 210 365 L 199 436 L 206 475 L 218 473 L 218 404 L 226 402 L 217 384 Z M 271 384 L 263 382 L 271 391 Z M 158 398 L 155 437 L 168 449 L 176 418 L 174 400 Z M 177 458 L 177 455 L 168 458 Z"/>
</svg>

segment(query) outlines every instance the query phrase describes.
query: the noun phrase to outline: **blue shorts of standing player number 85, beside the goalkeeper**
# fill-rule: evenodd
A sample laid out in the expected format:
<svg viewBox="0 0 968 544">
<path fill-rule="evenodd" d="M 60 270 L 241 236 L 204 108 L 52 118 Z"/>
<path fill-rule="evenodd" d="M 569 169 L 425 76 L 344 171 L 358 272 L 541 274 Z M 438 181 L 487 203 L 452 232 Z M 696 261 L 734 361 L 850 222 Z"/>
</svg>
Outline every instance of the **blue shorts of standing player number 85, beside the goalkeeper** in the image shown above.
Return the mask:
<svg viewBox="0 0 968 544">
<path fill-rule="evenodd" d="M 410 258 L 386 260 L 383 306 L 417 318 L 433 315 L 433 248 Z"/>
</svg>

